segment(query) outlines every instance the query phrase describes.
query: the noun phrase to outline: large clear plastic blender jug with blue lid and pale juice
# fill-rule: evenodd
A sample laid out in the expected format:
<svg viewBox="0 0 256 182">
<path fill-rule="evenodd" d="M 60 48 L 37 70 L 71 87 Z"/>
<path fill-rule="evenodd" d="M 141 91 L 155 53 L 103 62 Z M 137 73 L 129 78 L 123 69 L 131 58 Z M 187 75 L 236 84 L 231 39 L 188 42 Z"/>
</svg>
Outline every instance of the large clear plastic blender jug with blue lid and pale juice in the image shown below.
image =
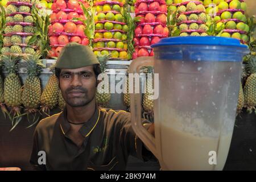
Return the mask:
<svg viewBox="0 0 256 182">
<path fill-rule="evenodd" d="M 222 170 L 236 118 L 242 57 L 237 39 L 175 37 L 152 45 L 154 57 L 138 57 L 130 73 L 154 66 L 155 138 L 141 125 L 141 95 L 130 94 L 135 133 L 163 170 Z"/>
</svg>

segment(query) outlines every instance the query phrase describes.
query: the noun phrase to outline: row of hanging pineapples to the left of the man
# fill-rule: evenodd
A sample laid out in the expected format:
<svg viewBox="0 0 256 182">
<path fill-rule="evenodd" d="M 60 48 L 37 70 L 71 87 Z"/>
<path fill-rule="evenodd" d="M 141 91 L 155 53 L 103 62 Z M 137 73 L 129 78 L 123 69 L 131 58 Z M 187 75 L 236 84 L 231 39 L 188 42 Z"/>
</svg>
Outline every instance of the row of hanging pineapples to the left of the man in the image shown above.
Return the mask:
<svg viewBox="0 0 256 182">
<path fill-rule="evenodd" d="M 18 125 L 23 115 L 27 116 L 30 127 L 38 122 L 40 114 L 49 114 L 49 110 L 57 105 L 61 109 L 65 106 L 59 91 L 59 80 L 54 72 L 45 88 L 41 89 L 39 75 L 44 66 L 40 57 L 40 53 L 23 56 L 27 77 L 22 84 L 18 74 L 19 57 L 1 55 L 0 72 L 7 71 L 7 76 L 5 78 L 0 76 L 0 108 L 3 115 L 11 120 L 11 130 Z M 53 67 L 51 69 L 53 71 Z"/>
</svg>

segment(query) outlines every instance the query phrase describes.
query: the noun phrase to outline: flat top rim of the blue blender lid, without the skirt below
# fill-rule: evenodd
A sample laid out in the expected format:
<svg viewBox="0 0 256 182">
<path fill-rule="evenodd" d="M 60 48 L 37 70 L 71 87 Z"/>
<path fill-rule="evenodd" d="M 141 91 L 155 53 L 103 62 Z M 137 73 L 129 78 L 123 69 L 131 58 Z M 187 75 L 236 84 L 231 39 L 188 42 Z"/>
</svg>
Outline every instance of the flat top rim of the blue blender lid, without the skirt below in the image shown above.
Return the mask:
<svg viewBox="0 0 256 182">
<path fill-rule="evenodd" d="M 247 48 L 247 46 L 240 44 L 238 39 L 218 36 L 176 36 L 161 39 L 158 43 L 152 44 L 151 47 L 177 45 L 236 46 L 240 48 Z"/>
</svg>

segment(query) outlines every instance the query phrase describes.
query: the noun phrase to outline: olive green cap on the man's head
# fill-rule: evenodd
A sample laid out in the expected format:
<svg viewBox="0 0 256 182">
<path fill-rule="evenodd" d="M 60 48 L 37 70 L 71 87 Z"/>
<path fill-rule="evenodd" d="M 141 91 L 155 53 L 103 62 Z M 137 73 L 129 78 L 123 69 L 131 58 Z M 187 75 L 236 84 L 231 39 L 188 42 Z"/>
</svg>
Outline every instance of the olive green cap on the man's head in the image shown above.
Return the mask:
<svg viewBox="0 0 256 182">
<path fill-rule="evenodd" d="M 60 52 L 55 68 L 77 69 L 93 64 L 100 64 L 89 46 L 82 46 L 76 42 L 68 43 Z"/>
</svg>

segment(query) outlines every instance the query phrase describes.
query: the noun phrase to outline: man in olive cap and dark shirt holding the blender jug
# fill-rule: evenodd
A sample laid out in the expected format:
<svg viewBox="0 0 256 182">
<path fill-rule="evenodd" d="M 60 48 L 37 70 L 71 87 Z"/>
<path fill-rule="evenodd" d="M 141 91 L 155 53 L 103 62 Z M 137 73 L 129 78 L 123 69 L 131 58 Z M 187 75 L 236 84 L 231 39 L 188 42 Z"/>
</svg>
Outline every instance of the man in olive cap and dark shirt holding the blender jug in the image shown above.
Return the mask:
<svg viewBox="0 0 256 182">
<path fill-rule="evenodd" d="M 124 170 L 129 155 L 142 160 L 152 157 L 135 135 L 130 113 L 97 107 L 100 67 L 88 46 L 69 43 L 55 67 L 67 105 L 35 129 L 30 162 L 36 169 Z M 154 125 L 142 122 L 154 135 Z M 46 163 L 38 162 L 43 157 L 38 154 L 44 154 L 40 151 L 45 152 Z"/>
</svg>

